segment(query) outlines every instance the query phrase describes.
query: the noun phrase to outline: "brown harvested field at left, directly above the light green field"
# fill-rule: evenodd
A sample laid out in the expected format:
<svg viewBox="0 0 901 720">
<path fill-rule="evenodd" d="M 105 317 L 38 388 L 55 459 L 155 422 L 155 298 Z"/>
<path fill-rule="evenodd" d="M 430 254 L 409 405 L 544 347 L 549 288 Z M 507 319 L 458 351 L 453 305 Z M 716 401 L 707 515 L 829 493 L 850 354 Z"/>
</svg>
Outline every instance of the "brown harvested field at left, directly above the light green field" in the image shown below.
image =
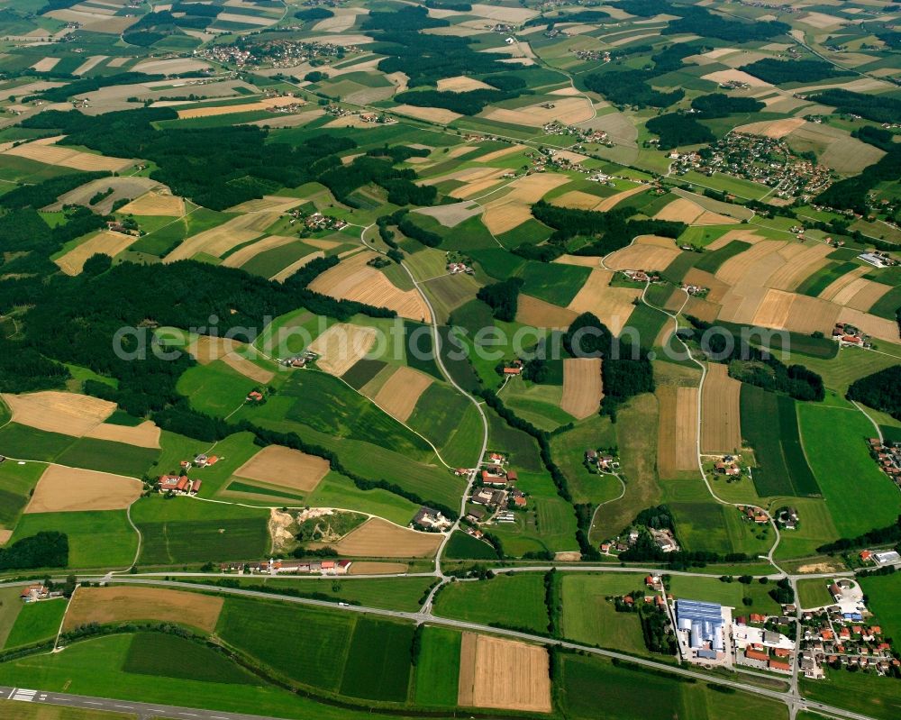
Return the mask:
<svg viewBox="0 0 901 720">
<path fill-rule="evenodd" d="M 50 465 L 25 508 L 26 513 L 124 510 L 141 497 L 144 484 L 108 472 Z"/>
</svg>

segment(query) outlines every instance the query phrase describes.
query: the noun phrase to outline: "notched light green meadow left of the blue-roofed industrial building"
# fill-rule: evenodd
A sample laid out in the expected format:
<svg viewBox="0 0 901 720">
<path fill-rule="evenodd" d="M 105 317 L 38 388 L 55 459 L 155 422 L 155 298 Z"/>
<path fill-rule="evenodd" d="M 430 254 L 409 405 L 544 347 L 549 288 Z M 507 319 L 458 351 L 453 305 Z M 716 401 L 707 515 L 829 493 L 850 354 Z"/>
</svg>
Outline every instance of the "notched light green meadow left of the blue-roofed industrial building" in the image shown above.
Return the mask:
<svg viewBox="0 0 901 720">
<path fill-rule="evenodd" d="M 644 645 L 642 621 L 638 614 L 617 613 L 613 601 L 606 599 L 647 589 L 643 575 L 567 573 L 560 582 L 563 596 L 563 637 L 577 643 L 599 645 L 636 655 L 650 654 Z"/>
</svg>

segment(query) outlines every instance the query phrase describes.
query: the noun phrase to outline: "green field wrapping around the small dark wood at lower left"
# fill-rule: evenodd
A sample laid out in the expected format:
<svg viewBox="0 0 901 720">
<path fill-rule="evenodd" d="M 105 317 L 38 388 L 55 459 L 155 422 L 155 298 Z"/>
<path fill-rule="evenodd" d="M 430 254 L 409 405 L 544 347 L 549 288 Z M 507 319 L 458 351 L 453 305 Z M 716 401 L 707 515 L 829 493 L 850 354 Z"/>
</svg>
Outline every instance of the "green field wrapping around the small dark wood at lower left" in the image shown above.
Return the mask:
<svg viewBox="0 0 901 720">
<path fill-rule="evenodd" d="M 138 534 L 128 524 L 124 510 L 29 513 L 15 526 L 11 542 L 43 530 L 68 535 L 68 567 L 72 569 L 128 568 L 138 550 Z"/>
</svg>

